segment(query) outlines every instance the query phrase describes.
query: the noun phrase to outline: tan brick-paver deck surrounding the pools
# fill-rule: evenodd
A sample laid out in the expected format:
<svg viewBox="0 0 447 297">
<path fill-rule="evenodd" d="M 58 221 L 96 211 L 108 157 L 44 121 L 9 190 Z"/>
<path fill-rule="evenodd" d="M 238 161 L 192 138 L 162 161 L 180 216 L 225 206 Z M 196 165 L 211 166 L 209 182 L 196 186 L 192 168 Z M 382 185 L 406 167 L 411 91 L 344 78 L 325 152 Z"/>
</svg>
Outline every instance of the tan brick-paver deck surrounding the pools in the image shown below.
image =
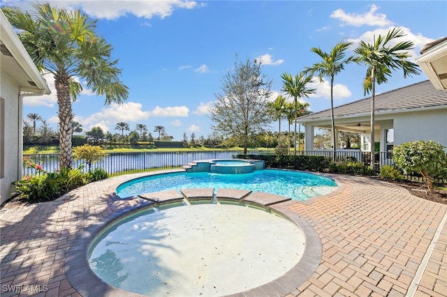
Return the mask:
<svg viewBox="0 0 447 297">
<path fill-rule="evenodd" d="M 148 204 L 113 195 L 118 183 L 143 175 L 91 183 L 55 201 L 1 208 L 1 296 L 82 296 L 67 279 L 68 250 L 103 218 Z M 332 177 L 344 188 L 306 203 L 272 206 L 309 222 L 323 248 L 316 272 L 283 295 L 446 296 L 447 205 L 372 178 Z"/>
</svg>

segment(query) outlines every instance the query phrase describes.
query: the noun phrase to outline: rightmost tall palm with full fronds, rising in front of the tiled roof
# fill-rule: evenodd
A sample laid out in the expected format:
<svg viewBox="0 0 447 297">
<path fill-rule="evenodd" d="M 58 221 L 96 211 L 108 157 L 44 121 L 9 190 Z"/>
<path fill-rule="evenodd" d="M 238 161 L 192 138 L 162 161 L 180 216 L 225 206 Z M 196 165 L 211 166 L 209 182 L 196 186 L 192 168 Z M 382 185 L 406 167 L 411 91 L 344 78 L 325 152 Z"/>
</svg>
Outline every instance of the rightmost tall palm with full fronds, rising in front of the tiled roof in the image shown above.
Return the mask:
<svg viewBox="0 0 447 297">
<path fill-rule="evenodd" d="M 385 37 L 379 35 L 374 38 L 374 43 L 365 43 L 360 41 L 360 45 L 354 50 L 357 54 L 356 62 L 367 66 L 365 80 L 363 82 L 363 89 L 365 95 L 369 92 L 371 96 L 371 137 L 370 150 L 371 160 L 374 160 L 374 100 L 376 97 L 376 84 L 383 84 L 388 82 L 388 77 L 391 76 L 392 70 L 404 70 L 404 78 L 415 74 L 418 75 L 418 65 L 411 61 L 407 61 L 411 55 L 408 50 L 413 49 L 411 41 L 401 41 L 395 45 L 393 43 L 395 38 L 406 36 L 404 31 L 400 28 L 393 28 L 388 31 Z M 374 168 L 374 162 L 371 162 L 371 167 Z"/>
</svg>

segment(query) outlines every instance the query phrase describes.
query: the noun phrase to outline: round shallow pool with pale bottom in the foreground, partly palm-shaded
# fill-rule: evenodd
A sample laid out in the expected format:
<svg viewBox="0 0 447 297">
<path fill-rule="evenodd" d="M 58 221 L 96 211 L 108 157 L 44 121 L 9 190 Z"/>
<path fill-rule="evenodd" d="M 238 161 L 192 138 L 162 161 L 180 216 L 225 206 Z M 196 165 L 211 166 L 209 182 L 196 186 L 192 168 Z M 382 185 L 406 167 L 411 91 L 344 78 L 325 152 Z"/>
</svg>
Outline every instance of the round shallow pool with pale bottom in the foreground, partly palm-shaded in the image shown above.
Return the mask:
<svg viewBox="0 0 447 297">
<path fill-rule="evenodd" d="M 124 291 L 225 296 L 284 275 L 306 246 L 300 227 L 279 215 L 199 204 L 126 216 L 99 234 L 88 258 L 98 277 Z"/>
</svg>

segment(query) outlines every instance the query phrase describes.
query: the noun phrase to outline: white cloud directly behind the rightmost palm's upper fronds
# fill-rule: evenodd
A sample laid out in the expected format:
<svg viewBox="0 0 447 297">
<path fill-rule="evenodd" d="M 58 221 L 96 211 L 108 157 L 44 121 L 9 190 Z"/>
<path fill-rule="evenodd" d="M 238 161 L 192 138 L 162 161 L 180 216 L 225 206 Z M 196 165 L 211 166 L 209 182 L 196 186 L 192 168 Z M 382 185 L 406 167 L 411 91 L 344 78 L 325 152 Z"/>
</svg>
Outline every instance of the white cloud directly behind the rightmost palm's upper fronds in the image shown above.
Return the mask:
<svg viewBox="0 0 447 297">
<path fill-rule="evenodd" d="M 415 33 L 411 32 L 411 29 L 409 29 L 409 28 L 405 28 L 403 26 L 401 26 L 400 28 L 404 31 L 404 33 L 406 35 L 402 38 L 396 38 L 395 40 L 392 40 L 389 43 L 389 45 L 396 45 L 397 43 L 400 43 L 402 41 L 407 41 L 407 40 L 410 40 L 411 42 L 413 42 L 414 49 L 409 51 L 409 54 L 411 54 L 411 58 L 410 58 L 411 61 L 414 61 L 414 59 L 416 59 L 416 56 L 420 55 L 419 54 L 420 49 L 424 45 L 426 45 L 427 43 L 431 43 L 434 40 L 433 38 L 425 37 L 420 33 L 415 34 Z M 377 36 L 379 36 L 379 35 L 386 36 L 386 34 L 388 33 L 388 31 L 390 29 L 393 29 L 393 27 L 375 29 L 372 31 L 366 31 L 361 36 L 358 36 L 358 38 L 350 39 L 350 41 L 353 41 L 353 43 L 355 45 L 358 45 L 358 43 L 360 43 L 361 40 L 363 40 L 365 43 L 372 44 L 372 43 L 374 43 L 374 38 L 377 38 Z"/>
</svg>

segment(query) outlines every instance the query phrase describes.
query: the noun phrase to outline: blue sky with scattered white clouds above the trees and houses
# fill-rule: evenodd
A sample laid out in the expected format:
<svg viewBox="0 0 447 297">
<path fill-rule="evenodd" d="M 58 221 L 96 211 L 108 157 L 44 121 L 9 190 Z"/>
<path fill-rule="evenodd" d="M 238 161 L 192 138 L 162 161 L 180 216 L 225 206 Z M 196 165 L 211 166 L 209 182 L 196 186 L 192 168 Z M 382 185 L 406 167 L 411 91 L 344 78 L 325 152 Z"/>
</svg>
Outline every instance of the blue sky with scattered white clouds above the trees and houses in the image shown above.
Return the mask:
<svg viewBox="0 0 447 297">
<path fill-rule="evenodd" d="M 3 1 L 30 9 L 27 1 Z M 75 121 L 85 130 L 100 126 L 112 133 L 116 123 L 163 125 L 168 135 L 212 134 L 208 107 L 221 93 L 221 78 L 235 62 L 262 59 L 272 79 L 272 100 L 281 94 L 282 73 L 295 75 L 319 61 L 310 51 L 330 52 L 343 38 L 356 47 L 400 26 L 413 41 L 412 60 L 426 43 L 447 36 L 447 1 L 50 1 L 82 8 L 98 18 L 97 33 L 114 47 L 122 81 L 129 87 L 123 105 L 103 105 L 103 98 L 85 89 L 73 102 Z M 353 54 L 353 49 L 348 54 Z M 366 68 L 355 64 L 335 77 L 335 105 L 365 98 Z M 24 100 L 24 116 L 36 112 L 57 127 L 57 99 L 52 77 L 45 77 L 50 96 Z M 404 79 L 393 73 L 377 92 L 426 80 L 424 73 Z M 82 79 L 80 79 L 82 82 Z M 317 92 L 305 98 L 313 112 L 330 107 L 328 82 L 314 83 Z M 271 130 L 277 130 L 272 123 Z M 152 132 L 154 136 L 157 133 Z"/>
</svg>

